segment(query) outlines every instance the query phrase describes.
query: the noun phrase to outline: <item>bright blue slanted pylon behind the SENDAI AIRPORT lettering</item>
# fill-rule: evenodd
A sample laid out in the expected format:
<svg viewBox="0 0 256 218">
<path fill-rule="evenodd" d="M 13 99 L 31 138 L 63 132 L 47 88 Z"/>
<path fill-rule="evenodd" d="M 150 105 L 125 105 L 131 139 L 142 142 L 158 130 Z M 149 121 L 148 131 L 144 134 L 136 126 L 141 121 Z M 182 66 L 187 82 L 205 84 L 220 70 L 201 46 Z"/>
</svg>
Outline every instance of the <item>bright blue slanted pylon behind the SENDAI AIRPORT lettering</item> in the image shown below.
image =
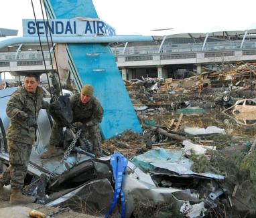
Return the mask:
<svg viewBox="0 0 256 218">
<path fill-rule="evenodd" d="M 61 1 L 61 4 L 58 0 L 50 0 L 50 2 L 56 18 L 97 17 L 92 1 L 70 0 Z M 63 2 L 65 7 L 60 6 L 63 5 Z M 84 5 L 82 10 L 80 9 L 81 4 Z M 74 12 L 76 12 L 75 15 Z M 82 84 L 92 84 L 95 96 L 103 104 L 105 110 L 101 123 L 103 136 L 111 138 L 129 129 L 141 133 L 139 120 L 109 45 L 100 43 L 68 44 L 68 49 L 78 69 Z"/>
</svg>

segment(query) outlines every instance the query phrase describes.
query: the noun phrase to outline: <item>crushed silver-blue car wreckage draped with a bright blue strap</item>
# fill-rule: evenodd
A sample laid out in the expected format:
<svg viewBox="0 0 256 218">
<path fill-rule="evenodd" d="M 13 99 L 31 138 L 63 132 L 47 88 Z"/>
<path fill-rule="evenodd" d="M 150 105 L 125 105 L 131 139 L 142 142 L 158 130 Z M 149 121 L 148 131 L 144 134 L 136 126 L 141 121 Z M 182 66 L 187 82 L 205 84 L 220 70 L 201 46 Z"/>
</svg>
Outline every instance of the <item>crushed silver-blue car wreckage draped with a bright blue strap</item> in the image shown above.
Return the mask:
<svg viewBox="0 0 256 218">
<path fill-rule="evenodd" d="M 5 108 L 15 90 L 0 91 L 1 172 L 9 165 L 5 138 L 9 118 Z M 67 114 L 62 113 L 62 118 Z M 136 209 L 145 202 L 166 204 L 171 211 L 186 217 L 204 217 L 210 209 L 218 207 L 219 202 L 232 205 L 227 192 L 218 183 L 225 177 L 193 172 L 192 161 L 184 157 L 181 150 L 149 150 L 132 160 L 119 153 L 96 159 L 88 150 L 83 150 L 78 140 L 72 150 L 67 149 L 70 155 L 65 152 L 63 157 L 42 160 L 40 155 L 48 144 L 51 129 L 52 117 L 41 110 L 24 188 L 24 193 L 34 195 L 39 204 L 70 207 L 91 215 L 110 215 L 109 209 L 118 213 L 115 203 L 119 201 L 115 194 L 122 193 L 125 201 L 121 201 L 121 217 L 136 216 Z M 114 165 L 113 157 L 116 158 Z M 125 164 L 119 161 L 121 159 Z M 117 181 L 121 181 L 119 186 Z"/>
</svg>

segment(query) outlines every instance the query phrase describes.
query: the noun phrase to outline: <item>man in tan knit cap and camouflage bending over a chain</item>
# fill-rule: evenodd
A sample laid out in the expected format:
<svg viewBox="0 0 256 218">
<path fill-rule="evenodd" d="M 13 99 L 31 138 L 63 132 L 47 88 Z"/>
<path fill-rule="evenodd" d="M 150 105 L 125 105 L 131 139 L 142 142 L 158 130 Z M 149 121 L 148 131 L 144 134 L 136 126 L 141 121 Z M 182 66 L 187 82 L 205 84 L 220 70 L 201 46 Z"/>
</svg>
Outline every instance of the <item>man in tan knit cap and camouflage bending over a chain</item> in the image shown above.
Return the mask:
<svg viewBox="0 0 256 218">
<path fill-rule="evenodd" d="M 97 98 L 93 96 L 93 87 L 85 85 L 80 94 L 74 94 L 70 97 L 71 108 L 73 112 L 73 124 L 76 128 L 81 128 L 88 133 L 88 140 L 92 142 L 92 152 L 95 156 L 101 156 L 101 133 L 99 124 L 103 119 L 103 107 Z M 52 134 L 50 137 L 50 148 L 42 154 L 41 158 L 50 158 L 59 154 L 56 147 L 60 144 L 62 136 L 60 124 L 54 122 Z"/>
</svg>

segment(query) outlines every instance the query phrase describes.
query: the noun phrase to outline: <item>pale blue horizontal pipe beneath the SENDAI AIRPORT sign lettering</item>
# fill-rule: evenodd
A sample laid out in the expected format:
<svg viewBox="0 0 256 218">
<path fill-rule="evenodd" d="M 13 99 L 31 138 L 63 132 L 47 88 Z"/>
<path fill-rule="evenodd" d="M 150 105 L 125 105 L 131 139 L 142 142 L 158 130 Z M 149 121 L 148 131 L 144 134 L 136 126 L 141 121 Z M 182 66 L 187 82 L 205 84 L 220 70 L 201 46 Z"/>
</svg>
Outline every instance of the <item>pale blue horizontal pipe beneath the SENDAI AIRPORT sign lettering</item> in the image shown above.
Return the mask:
<svg viewBox="0 0 256 218">
<path fill-rule="evenodd" d="M 47 43 L 46 37 L 41 38 L 42 43 Z M 135 42 L 153 41 L 153 37 L 144 35 L 116 35 L 116 36 L 58 36 L 52 37 L 54 43 L 114 43 L 114 42 Z M 0 41 L 0 48 L 13 44 L 39 43 L 38 37 L 13 37 Z"/>
</svg>

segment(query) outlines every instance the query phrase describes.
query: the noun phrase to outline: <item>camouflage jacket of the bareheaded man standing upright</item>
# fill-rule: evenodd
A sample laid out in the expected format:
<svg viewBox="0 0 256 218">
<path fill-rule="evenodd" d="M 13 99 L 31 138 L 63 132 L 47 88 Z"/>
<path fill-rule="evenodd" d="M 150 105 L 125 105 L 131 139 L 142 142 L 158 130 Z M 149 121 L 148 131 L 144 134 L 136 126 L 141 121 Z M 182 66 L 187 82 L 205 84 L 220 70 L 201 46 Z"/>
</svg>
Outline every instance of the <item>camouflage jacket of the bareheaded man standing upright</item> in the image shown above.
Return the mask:
<svg viewBox="0 0 256 218">
<path fill-rule="evenodd" d="M 34 144 L 36 128 L 29 127 L 27 120 L 20 118 L 20 112 L 23 111 L 37 120 L 41 108 L 49 108 L 49 103 L 43 100 L 42 88 L 38 87 L 36 94 L 27 92 L 23 87 L 13 92 L 6 108 L 7 116 L 11 119 L 7 130 L 7 138 L 16 142 Z"/>
</svg>

